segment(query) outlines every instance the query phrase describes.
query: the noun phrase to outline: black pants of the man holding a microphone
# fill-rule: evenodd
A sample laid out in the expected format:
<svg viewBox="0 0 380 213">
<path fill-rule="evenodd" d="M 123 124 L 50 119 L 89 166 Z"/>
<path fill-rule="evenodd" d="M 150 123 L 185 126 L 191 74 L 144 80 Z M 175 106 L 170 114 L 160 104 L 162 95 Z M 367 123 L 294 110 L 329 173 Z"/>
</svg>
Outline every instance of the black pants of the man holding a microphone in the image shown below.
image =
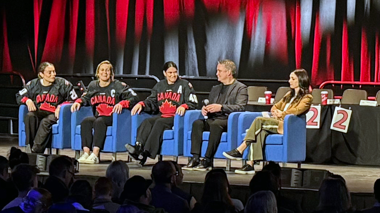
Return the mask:
<svg viewBox="0 0 380 213">
<path fill-rule="evenodd" d="M 227 132 L 227 121 L 227 119 L 198 119 L 194 121 L 191 132 L 190 153 L 195 155 L 194 157 L 201 155 L 203 132 L 210 132 L 205 157 L 210 160 L 214 158 L 222 133 Z"/>
</svg>

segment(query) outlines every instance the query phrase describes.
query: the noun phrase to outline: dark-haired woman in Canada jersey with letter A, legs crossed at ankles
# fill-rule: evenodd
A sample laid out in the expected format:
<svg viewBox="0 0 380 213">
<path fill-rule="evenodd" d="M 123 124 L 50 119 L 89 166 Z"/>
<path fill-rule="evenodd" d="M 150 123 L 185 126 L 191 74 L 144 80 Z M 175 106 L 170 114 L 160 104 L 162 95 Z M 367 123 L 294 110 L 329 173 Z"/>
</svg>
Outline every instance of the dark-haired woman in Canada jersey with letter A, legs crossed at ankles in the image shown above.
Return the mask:
<svg viewBox="0 0 380 213">
<path fill-rule="evenodd" d="M 164 64 L 163 74 L 166 79 L 158 82 L 152 94 L 131 110 L 132 116 L 141 111 L 159 111 L 157 116 L 145 119 L 137 129 L 136 146 L 125 144 L 128 154 L 143 165 L 150 157 L 156 158 L 162 144 L 162 134 L 171 129 L 174 116 L 183 116 L 185 110 L 193 110 L 198 105 L 193 86 L 178 77 L 177 65 L 173 61 Z"/>
</svg>

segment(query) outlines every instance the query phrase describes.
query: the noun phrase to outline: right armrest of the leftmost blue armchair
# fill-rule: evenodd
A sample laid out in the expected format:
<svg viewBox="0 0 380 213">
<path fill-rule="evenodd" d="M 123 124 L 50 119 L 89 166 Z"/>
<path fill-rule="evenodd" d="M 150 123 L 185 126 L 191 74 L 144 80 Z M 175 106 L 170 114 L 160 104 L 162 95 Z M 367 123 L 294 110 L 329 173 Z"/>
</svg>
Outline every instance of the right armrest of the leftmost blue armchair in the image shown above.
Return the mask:
<svg viewBox="0 0 380 213">
<path fill-rule="evenodd" d="M 58 133 L 62 134 L 63 143 L 71 140 L 71 105 L 62 105 L 59 110 Z"/>
</svg>

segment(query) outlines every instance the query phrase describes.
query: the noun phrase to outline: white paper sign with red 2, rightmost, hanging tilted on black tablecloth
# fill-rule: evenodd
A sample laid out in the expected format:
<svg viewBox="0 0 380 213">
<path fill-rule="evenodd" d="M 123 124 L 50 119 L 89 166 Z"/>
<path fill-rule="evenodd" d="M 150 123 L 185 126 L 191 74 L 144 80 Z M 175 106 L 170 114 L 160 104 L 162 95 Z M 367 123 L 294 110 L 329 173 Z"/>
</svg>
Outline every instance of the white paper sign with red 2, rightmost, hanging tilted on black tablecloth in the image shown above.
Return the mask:
<svg viewBox="0 0 380 213">
<path fill-rule="evenodd" d="M 335 107 L 330 129 L 347 133 L 348 125 L 350 124 L 351 113 L 352 110 L 347 110 L 341 107 Z"/>
</svg>

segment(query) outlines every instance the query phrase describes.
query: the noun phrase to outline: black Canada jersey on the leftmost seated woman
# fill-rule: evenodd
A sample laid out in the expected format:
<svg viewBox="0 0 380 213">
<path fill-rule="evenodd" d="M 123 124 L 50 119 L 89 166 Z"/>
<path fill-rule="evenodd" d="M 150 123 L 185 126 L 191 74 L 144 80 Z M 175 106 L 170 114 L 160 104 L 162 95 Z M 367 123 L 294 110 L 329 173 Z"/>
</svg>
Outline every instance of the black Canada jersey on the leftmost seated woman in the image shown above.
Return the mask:
<svg viewBox="0 0 380 213">
<path fill-rule="evenodd" d="M 54 113 L 58 105 L 78 98 L 73 85 L 65 78 L 55 77 L 50 86 L 42 85 L 41 81 L 39 78 L 33 79 L 17 92 L 17 103 L 25 104 L 30 99 L 36 108 Z"/>
</svg>

